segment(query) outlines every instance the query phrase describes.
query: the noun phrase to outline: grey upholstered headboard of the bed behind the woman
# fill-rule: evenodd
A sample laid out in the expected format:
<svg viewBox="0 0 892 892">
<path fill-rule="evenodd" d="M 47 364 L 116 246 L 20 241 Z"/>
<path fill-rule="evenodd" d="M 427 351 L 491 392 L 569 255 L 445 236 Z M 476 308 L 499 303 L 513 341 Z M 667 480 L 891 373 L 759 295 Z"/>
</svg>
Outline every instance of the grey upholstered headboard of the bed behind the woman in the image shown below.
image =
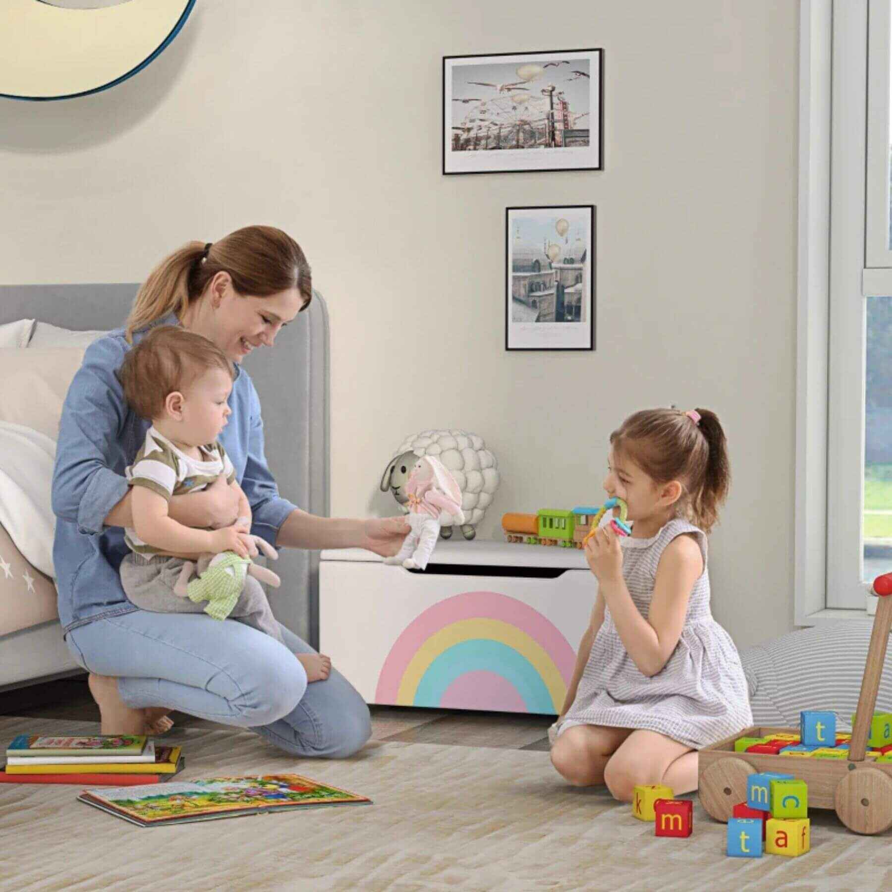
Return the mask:
<svg viewBox="0 0 892 892">
<path fill-rule="evenodd" d="M 0 285 L 0 325 L 36 318 L 78 331 L 121 326 L 138 285 Z M 245 359 L 257 386 L 270 470 L 279 492 L 311 514 L 329 513 L 328 313 L 310 309 L 279 333 L 272 350 Z M 286 549 L 275 563 L 282 587 L 270 604 L 280 622 L 318 645 L 318 552 Z"/>
</svg>

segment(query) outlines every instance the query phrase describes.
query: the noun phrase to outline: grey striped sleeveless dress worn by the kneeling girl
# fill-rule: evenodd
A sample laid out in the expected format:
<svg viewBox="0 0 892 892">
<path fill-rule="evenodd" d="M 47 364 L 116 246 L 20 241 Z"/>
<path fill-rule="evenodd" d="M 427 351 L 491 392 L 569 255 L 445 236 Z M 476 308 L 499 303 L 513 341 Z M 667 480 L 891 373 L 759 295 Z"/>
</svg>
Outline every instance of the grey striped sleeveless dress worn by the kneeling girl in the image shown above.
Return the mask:
<svg viewBox="0 0 892 892">
<path fill-rule="evenodd" d="M 706 567 L 706 534 L 675 518 L 652 539 L 622 539 L 623 576 L 635 607 L 647 618 L 657 565 L 666 546 L 693 533 Z M 694 583 L 681 638 L 656 675 L 640 673 L 616 631 L 609 608 L 573 706 L 557 729 L 579 724 L 657 731 L 699 749 L 752 723 L 747 681 L 737 648 L 709 609 L 709 572 Z"/>
</svg>

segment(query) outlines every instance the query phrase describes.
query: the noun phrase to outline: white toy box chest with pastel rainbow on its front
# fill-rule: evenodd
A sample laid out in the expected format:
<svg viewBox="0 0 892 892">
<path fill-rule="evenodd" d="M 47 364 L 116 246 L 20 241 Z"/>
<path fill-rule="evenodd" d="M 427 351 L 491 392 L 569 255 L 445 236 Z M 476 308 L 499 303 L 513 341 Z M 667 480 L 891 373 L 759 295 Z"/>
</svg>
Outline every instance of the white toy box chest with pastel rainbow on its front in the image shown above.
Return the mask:
<svg viewBox="0 0 892 892">
<path fill-rule="evenodd" d="M 424 572 L 322 552 L 322 653 L 369 704 L 558 714 L 597 593 L 582 551 L 439 541 Z"/>
</svg>

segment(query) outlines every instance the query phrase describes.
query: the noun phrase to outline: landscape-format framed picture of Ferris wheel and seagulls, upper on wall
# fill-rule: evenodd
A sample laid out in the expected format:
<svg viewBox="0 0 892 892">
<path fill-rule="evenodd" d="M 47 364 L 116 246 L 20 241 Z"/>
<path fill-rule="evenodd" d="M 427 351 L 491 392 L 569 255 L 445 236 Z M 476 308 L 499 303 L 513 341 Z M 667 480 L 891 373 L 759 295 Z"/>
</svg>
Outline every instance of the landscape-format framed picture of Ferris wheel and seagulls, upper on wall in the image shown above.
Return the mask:
<svg viewBox="0 0 892 892">
<path fill-rule="evenodd" d="M 443 57 L 443 173 L 604 169 L 604 51 Z"/>
</svg>

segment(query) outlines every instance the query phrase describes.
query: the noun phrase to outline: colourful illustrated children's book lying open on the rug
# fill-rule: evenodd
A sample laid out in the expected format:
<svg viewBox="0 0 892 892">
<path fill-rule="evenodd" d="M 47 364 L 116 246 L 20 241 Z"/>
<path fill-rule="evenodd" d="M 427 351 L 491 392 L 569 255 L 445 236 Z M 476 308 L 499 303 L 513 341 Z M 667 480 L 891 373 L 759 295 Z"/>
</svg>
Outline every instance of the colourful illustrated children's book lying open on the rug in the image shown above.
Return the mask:
<svg viewBox="0 0 892 892">
<path fill-rule="evenodd" d="M 370 805 L 371 799 L 301 774 L 263 774 L 170 782 L 164 789 L 86 789 L 78 802 L 94 805 L 139 827 L 212 821 L 321 805 Z"/>
</svg>

